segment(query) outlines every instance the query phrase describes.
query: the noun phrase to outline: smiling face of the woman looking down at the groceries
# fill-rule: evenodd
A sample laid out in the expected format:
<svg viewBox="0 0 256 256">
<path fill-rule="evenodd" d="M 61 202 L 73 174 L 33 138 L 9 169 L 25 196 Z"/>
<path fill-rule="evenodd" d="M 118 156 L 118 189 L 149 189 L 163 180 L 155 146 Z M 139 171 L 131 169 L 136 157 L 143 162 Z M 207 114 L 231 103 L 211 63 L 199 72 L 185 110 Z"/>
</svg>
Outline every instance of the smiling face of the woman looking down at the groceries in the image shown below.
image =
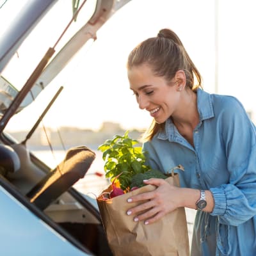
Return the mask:
<svg viewBox="0 0 256 256">
<path fill-rule="evenodd" d="M 139 107 L 147 110 L 158 124 L 175 114 L 180 102 L 175 77 L 168 83 L 164 77 L 154 76 L 150 67 L 141 65 L 128 70 L 128 79 Z"/>
</svg>

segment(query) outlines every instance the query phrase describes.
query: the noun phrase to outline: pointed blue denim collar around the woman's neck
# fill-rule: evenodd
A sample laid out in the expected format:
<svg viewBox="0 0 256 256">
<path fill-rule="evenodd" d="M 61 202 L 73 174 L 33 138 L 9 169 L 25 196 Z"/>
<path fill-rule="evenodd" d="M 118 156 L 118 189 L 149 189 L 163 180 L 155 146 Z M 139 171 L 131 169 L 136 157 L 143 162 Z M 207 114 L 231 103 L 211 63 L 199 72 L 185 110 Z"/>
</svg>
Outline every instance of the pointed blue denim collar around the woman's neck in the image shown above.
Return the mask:
<svg viewBox="0 0 256 256">
<path fill-rule="evenodd" d="M 200 123 L 205 120 L 212 118 L 214 116 L 211 94 L 204 92 L 202 89 L 198 88 L 197 93 L 197 108 L 200 116 Z M 179 132 L 177 131 L 175 125 L 173 124 L 171 118 L 168 118 L 165 122 L 165 129 L 159 131 L 157 138 L 161 140 L 172 140 L 175 141 L 179 138 Z"/>
</svg>

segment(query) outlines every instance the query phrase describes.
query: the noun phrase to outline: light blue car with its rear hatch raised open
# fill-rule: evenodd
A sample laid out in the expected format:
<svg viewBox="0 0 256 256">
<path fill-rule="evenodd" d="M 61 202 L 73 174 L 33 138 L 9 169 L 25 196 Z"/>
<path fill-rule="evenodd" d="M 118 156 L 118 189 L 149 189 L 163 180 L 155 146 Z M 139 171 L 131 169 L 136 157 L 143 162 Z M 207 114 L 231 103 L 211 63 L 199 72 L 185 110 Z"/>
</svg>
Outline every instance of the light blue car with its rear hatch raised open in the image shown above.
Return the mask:
<svg viewBox="0 0 256 256">
<path fill-rule="evenodd" d="M 8 2 L 23 4 L 10 10 Z M 127 2 L 9 0 L 1 6 L 0 13 L 11 20 L 1 24 L 6 29 L 0 36 L 1 255 L 112 255 L 95 200 L 73 186 L 90 169 L 95 159 L 93 150 L 71 147 L 63 161 L 51 169 L 28 147 L 62 87 L 51 100 L 43 101 L 40 115 L 29 106 Z M 73 16 L 63 15 L 67 10 Z M 25 54 L 19 55 L 21 52 Z M 18 59 L 24 60 L 22 70 L 15 68 Z M 10 122 L 19 127 L 15 116 L 27 109 L 36 122 L 25 138 L 13 138 L 6 127 Z"/>
</svg>

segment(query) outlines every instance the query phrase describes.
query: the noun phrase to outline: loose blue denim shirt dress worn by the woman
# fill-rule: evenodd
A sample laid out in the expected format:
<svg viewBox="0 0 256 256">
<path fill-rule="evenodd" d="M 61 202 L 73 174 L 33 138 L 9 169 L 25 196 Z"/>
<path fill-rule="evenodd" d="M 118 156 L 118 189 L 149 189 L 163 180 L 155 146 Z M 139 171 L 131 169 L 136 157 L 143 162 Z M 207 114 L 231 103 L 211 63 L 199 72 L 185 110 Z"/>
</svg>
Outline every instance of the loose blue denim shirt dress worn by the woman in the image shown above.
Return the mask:
<svg viewBox="0 0 256 256">
<path fill-rule="evenodd" d="M 234 97 L 197 90 L 194 147 L 166 121 L 143 144 L 147 164 L 162 172 L 181 164 L 180 186 L 210 190 L 211 214 L 197 211 L 191 255 L 256 255 L 256 129 Z"/>
</svg>

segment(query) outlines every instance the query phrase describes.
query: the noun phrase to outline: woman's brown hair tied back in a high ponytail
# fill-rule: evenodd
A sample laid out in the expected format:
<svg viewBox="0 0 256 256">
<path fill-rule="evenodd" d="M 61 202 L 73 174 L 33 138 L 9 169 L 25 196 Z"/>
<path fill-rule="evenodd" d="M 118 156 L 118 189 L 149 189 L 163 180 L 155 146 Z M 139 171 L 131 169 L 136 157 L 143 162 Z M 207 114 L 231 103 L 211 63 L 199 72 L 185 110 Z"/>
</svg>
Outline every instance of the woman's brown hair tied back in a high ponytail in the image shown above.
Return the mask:
<svg viewBox="0 0 256 256">
<path fill-rule="evenodd" d="M 200 73 L 179 37 L 170 29 L 161 29 L 156 37 L 148 38 L 137 45 L 128 56 L 127 69 L 145 63 L 156 76 L 164 77 L 166 81 L 171 81 L 178 70 L 183 70 L 186 75 L 186 88 L 196 91 L 198 87 L 202 87 Z M 164 124 L 157 124 L 153 120 L 143 140 L 152 140 L 160 129 L 164 129 Z"/>
</svg>

